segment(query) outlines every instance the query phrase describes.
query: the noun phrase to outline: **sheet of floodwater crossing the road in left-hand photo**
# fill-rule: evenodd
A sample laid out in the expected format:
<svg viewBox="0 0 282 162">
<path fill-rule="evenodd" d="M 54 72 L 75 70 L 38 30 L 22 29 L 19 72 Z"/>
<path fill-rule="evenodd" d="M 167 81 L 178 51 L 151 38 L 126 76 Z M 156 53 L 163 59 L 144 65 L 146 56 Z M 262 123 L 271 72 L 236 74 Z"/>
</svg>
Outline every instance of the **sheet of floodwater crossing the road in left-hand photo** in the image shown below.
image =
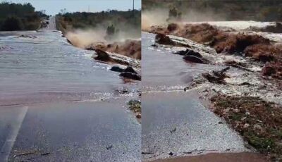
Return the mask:
<svg viewBox="0 0 282 162">
<path fill-rule="evenodd" d="M 0 103 L 96 99 L 125 84 L 110 66 L 78 49 L 61 32 L 0 32 Z"/>
</svg>

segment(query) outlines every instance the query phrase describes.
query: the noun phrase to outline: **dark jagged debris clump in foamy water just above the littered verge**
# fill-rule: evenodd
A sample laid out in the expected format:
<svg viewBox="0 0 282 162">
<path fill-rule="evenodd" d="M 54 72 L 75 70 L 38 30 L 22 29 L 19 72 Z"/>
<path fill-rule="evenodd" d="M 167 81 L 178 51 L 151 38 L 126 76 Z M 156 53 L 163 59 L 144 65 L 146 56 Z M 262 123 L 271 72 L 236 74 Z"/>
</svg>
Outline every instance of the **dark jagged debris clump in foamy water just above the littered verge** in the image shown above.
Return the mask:
<svg viewBox="0 0 282 162">
<path fill-rule="evenodd" d="M 202 76 L 206 78 L 209 82 L 217 83 L 217 84 L 225 84 L 224 79 L 227 77 L 226 71 L 229 70 L 230 67 L 223 68 L 222 70 L 215 71 L 212 73 L 203 73 Z"/>
</svg>

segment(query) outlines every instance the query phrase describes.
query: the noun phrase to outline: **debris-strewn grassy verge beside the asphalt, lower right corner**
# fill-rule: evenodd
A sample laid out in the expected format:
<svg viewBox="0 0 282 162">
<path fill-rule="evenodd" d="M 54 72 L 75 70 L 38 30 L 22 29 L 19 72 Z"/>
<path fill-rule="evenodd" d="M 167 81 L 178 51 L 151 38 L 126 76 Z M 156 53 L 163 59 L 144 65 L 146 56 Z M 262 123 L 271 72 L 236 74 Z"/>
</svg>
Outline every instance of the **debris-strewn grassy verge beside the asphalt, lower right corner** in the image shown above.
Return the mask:
<svg viewBox="0 0 282 162">
<path fill-rule="evenodd" d="M 282 106 L 255 96 L 213 96 L 212 110 L 271 161 L 282 160 Z"/>
</svg>

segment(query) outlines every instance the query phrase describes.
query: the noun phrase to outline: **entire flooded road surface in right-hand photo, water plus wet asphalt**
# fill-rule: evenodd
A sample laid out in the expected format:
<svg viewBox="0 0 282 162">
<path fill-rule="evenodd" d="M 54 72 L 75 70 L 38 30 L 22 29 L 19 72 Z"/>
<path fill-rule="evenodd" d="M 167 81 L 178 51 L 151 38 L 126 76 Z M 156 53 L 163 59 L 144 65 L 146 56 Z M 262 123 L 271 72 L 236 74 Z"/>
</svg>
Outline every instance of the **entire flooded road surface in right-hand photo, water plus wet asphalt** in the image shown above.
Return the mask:
<svg viewBox="0 0 282 162">
<path fill-rule="evenodd" d="M 171 49 L 152 44 L 154 35 L 143 32 L 142 159 L 250 151 L 197 92 L 183 91 L 194 75 L 219 67 L 185 63 Z"/>
</svg>

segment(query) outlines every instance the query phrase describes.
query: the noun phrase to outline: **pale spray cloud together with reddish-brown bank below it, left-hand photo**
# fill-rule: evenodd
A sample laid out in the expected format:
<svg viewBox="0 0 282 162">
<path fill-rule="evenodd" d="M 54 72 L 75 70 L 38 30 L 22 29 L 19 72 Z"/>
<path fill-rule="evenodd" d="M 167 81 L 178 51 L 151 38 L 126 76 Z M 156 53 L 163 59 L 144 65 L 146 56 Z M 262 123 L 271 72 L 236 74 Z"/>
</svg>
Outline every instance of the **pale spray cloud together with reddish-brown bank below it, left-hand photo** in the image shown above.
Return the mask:
<svg viewBox="0 0 282 162">
<path fill-rule="evenodd" d="M 119 32 L 113 39 L 106 39 L 109 36 L 104 28 L 95 30 L 75 30 L 66 32 L 66 39 L 73 46 L 82 49 L 100 49 L 103 51 L 121 54 L 130 58 L 141 59 L 141 40 L 133 39 L 130 34 L 123 35 Z M 113 36 L 113 37 L 114 37 Z"/>
</svg>

